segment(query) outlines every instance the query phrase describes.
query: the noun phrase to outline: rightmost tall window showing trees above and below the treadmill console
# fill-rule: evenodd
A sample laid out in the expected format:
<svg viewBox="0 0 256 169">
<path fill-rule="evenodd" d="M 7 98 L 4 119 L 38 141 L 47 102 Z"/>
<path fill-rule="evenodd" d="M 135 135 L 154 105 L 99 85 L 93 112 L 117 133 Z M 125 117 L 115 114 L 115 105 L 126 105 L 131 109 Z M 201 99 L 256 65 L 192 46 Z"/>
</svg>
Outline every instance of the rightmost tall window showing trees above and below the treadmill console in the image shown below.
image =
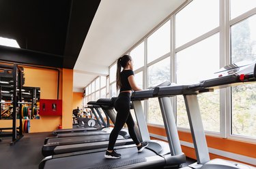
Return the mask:
<svg viewBox="0 0 256 169">
<path fill-rule="evenodd" d="M 256 15 L 231 26 L 232 63 L 256 60 L 255 22 Z M 256 138 L 256 85 L 233 87 L 231 100 L 231 134 Z"/>
</svg>

